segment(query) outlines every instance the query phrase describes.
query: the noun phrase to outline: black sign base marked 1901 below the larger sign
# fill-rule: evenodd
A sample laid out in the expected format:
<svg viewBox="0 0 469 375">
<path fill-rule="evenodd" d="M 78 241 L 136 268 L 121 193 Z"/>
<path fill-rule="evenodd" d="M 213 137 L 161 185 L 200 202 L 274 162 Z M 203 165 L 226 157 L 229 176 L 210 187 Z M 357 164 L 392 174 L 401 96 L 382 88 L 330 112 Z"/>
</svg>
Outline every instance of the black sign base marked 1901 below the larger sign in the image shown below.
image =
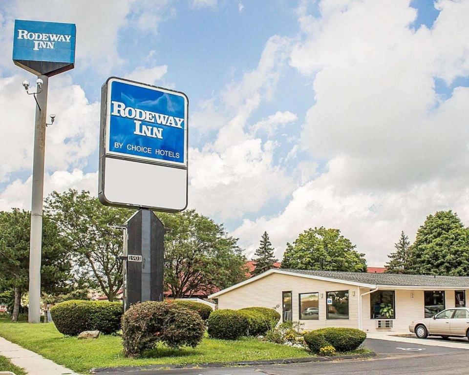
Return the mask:
<svg viewBox="0 0 469 375">
<path fill-rule="evenodd" d="M 127 310 L 134 303 L 163 301 L 163 223 L 149 209 L 140 209 L 127 221 L 127 282 L 124 285 Z"/>
</svg>

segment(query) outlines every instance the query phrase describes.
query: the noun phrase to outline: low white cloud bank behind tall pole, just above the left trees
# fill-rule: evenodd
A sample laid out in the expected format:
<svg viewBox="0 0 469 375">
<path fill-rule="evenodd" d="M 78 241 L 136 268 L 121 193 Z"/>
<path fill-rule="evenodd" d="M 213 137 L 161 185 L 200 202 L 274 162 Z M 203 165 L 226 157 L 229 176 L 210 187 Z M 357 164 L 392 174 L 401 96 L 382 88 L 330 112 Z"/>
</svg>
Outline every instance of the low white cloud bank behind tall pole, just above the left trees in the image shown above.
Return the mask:
<svg viewBox="0 0 469 375">
<path fill-rule="evenodd" d="M 11 208 L 31 209 L 31 182 L 32 177 L 26 181 L 15 180 L 0 192 L 0 210 Z M 55 171 L 51 175 L 44 175 L 44 197 L 52 191 L 63 192 L 69 188 L 88 190 L 94 196 L 98 195 L 98 172 L 83 173 L 75 169 Z"/>
</svg>

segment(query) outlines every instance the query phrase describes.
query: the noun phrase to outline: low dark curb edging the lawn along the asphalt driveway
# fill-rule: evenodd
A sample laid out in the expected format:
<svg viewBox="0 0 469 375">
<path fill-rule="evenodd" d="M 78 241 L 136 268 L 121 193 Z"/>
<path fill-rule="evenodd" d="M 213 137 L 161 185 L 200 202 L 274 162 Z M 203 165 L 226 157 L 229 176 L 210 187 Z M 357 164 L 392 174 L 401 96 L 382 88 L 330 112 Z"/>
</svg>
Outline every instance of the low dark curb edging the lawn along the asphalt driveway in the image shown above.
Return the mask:
<svg viewBox="0 0 469 375">
<path fill-rule="evenodd" d="M 132 372 L 148 370 L 171 370 L 171 369 L 193 369 L 193 368 L 211 368 L 211 367 L 230 367 L 230 366 L 258 366 L 258 365 L 282 365 L 288 363 L 307 363 L 307 362 L 329 362 L 338 359 L 358 359 L 376 356 L 376 353 L 354 354 L 354 355 L 335 355 L 333 357 L 302 357 L 287 359 L 263 359 L 259 361 L 239 361 L 239 362 L 214 362 L 214 363 L 192 363 L 187 365 L 149 365 L 149 366 L 125 366 L 125 367 L 96 367 L 91 369 L 90 374 L 106 374 L 114 372 Z"/>
</svg>

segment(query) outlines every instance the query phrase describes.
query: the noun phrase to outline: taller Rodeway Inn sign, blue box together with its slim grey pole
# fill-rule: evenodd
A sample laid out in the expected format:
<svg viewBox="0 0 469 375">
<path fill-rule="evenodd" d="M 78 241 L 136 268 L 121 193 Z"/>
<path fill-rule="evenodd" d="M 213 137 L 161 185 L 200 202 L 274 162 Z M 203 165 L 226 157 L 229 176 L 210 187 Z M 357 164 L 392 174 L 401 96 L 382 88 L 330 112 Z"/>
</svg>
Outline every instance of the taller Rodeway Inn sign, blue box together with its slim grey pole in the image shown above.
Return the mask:
<svg viewBox="0 0 469 375">
<path fill-rule="evenodd" d="M 29 244 L 29 323 L 41 315 L 41 255 L 43 234 L 44 154 L 49 77 L 75 66 L 76 27 L 72 23 L 15 21 L 13 62 L 38 76 L 34 126 L 31 232 Z M 29 83 L 23 82 L 29 93 Z M 52 115 L 51 115 L 52 117 Z"/>
</svg>

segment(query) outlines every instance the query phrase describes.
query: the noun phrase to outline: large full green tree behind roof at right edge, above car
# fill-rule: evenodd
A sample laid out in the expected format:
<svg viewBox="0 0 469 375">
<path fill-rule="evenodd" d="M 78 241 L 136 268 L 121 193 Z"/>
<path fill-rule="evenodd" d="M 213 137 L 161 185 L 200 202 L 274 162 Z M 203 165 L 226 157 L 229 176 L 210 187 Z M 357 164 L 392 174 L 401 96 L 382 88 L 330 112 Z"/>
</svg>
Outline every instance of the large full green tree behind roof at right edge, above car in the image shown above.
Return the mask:
<svg viewBox="0 0 469 375">
<path fill-rule="evenodd" d="M 412 245 L 412 273 L 469 275 L 469 230 L 456 213 L 428 215 Z"/>
</svg>

